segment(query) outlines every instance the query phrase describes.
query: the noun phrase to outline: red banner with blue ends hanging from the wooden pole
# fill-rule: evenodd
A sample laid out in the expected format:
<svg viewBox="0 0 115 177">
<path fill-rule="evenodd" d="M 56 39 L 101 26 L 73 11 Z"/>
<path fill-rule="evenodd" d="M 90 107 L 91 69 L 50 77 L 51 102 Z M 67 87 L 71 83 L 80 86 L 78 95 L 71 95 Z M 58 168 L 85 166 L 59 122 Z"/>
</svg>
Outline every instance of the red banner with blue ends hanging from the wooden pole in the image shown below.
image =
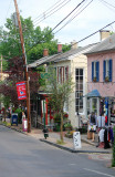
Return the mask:
<svg viewBox="0 0 115 177">
<path fill-rule="evenodd" d="M 27 93 L 25 93 L 25 82 L 18 82 L 17 83 L 17 92 L 18 92 L 18 100 L 25 100 Z"/>
</svg>

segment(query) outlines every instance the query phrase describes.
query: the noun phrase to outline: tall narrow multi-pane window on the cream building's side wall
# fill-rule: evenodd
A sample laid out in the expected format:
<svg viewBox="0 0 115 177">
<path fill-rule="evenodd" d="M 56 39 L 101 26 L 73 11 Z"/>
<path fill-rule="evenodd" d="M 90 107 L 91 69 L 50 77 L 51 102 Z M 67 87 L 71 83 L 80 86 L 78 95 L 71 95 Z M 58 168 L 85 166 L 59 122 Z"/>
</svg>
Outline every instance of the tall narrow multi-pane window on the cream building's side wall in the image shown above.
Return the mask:
<svg viewBox="0 0 115 177">
<path fill-rule="evenodd" d="M 75 70 L 75 111 L 83 113 L 83 69 Z"/>
</svg>

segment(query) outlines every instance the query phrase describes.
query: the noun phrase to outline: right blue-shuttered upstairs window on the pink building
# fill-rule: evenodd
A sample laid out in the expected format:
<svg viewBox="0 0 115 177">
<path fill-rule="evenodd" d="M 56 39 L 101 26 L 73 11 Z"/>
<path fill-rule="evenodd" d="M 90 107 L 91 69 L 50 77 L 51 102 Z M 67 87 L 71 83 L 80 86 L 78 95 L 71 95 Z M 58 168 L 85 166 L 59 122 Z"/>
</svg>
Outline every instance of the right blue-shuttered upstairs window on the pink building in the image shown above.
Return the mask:
<svg viewBox="0 0 115 177">
<path fill-rule="evenodd" d="M 103 61 L 103 80 L 105 82 L 112 82 L 112 59 Z"/>
</svg>

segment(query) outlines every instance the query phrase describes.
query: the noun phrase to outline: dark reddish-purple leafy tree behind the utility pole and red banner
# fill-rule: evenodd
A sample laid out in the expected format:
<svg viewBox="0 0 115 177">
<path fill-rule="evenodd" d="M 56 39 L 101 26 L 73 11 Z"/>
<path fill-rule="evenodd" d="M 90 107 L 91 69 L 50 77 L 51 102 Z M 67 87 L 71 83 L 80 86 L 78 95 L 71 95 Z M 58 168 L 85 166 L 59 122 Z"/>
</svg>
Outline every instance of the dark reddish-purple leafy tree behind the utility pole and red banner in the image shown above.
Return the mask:
<svg viewBox="0 0 115 177">
<path fill-rule="evenodd" d="M 18 101 L 15 83 L 24 81 L 24 65 L 21 58 L 9 60 L 9 76 L 0 84 L 0 93 L 10 98 L 10 102 L 18 107 L 20 104 L 25 105 L 25 101 Z M 39 73 L 29 70 L 30 77 L 30 96 L 32 97 L 39 90 Z"/>
</svg>

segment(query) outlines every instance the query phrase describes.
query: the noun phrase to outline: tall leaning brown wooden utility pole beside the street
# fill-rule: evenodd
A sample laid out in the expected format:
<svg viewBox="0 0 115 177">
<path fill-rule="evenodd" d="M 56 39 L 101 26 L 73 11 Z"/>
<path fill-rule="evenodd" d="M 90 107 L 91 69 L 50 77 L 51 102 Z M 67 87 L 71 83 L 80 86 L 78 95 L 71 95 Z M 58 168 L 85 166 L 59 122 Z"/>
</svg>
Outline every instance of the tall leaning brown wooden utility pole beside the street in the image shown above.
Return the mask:
<svg viewBox="0 0 115 177">
<path fill-rule="evenodd" d="M 28 66 L 27 66 L 27 54 L 25 54 L 25 49 L 24 49 L 24 40 L 23 40 L 23 34 L 22 34 L 22 27 L 21 27 L 21 20 L 20 20 L 20 14 L 19 14 L 17 0 L 14 0 L 14 7 L 15 7 L 18 24 L 19 24 L 20 41 L 21 41 L 21 48 L 22 48 L 22 58 L 23 58 L 23 63 L 24 63 L 24 67 L 25 67 L 24 72 L 25 72 L 25 84 L 27 84 L 28 132 L 31 132 L 31 123 L 30 123 L 30 90 L 29 90 L 29 76 L 28 76 Z"/>
</svg>

